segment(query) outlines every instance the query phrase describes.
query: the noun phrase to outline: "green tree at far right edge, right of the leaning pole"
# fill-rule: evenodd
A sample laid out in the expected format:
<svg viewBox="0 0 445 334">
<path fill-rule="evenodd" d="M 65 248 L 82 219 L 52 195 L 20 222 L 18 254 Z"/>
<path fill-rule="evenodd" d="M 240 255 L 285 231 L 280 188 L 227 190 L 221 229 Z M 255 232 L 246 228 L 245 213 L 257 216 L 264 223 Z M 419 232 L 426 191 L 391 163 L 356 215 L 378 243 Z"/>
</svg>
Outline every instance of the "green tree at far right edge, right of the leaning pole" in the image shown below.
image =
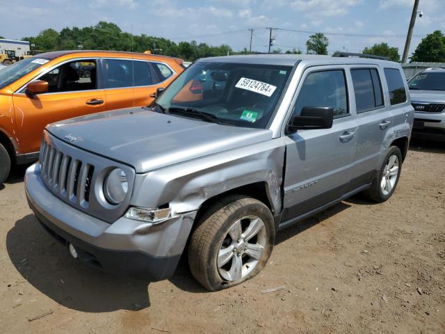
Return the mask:
<svg viewBox="0 0 445 334">
<path fill-rule="evenodd" d="M 445 36 L 442 31 L 436 30 L 422 38 L 411 61 L 445 62 Z"/>
</svg>

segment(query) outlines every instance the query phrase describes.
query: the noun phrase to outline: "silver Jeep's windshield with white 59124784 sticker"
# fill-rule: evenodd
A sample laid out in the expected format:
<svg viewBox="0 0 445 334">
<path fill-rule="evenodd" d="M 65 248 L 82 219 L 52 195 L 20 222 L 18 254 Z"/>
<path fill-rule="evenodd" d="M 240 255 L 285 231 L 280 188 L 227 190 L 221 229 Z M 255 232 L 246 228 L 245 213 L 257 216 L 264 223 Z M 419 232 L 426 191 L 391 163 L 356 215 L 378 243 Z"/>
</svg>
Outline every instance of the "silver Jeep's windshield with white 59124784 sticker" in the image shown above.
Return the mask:
<svg viewBox="0 0 445 334">
<path fill-rule="evenodd" d="M 156 104 L 159 111 L 177 116 L 264 128 L 291 70 L 291 66 L 198 62 L 188 67 Z"/>
</svg>

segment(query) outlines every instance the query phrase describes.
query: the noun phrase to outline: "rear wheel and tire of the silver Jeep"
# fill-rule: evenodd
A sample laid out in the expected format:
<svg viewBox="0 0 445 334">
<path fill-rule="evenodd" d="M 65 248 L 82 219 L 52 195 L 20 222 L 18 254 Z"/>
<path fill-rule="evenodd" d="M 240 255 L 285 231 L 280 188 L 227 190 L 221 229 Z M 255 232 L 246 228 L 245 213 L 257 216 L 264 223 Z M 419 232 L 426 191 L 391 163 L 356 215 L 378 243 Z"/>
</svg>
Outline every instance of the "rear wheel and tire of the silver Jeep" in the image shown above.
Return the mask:
<svg viewBox="0 0 445 334">
<path fill-rule="evenodd" d="M 402 152 L 397 146 L 391 146 L 371 187 L 364 191 L 364 195 L 375 202 L 385 202 L 396 190 L 401 171 Z"/>
</svg>

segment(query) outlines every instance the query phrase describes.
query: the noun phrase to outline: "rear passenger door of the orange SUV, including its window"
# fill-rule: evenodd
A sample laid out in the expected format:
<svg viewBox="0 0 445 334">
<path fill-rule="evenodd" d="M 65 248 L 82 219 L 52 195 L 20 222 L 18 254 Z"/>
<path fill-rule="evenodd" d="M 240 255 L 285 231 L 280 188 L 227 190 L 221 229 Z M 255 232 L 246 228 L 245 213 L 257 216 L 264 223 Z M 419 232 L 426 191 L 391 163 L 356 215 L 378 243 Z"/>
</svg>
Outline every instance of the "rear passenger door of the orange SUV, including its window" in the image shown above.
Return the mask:
<svg viewBox="0 0 445 334">
<path fill-rule="evenodd" d="M 134 106 L 133 60 L 121 58 L 102 59 L 103 87 L 107 110 Z"/>
</svg>

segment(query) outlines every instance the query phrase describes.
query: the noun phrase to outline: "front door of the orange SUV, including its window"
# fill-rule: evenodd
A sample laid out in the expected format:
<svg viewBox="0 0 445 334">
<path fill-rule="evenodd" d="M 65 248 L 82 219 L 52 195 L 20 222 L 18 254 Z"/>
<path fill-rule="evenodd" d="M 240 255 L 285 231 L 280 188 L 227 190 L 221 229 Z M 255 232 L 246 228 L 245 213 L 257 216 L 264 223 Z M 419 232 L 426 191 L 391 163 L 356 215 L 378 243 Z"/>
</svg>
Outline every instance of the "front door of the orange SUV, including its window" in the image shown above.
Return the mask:
<svg viewBox="0 0 445 334">
<path fill-rule="evenodd" d="M 47 124 L 106 111 L 105 92 L 97 88 L 99 76 L 96 59 L 69 61 L 35 78 L 48 82 L 48 93 L 29 96 L 23 88 L 13 94 L 17 136 L 23 153 L 38 152 Z"/>
</svg>

